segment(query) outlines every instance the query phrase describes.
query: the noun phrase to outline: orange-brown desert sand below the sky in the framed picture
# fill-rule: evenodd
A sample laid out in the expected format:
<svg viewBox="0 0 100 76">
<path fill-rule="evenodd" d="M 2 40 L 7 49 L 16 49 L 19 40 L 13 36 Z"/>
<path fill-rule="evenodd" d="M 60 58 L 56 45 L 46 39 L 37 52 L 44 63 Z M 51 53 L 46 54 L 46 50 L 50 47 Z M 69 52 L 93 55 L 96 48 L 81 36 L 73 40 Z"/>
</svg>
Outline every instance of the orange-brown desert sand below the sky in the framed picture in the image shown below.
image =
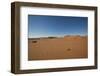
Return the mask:
<svg viewBox="0 0 100 76">
<path fill-rule="evenodd" d="M 87 36 L 29 38 L 28 60 L 87 58 L 87 45 Z"/>
</svg>

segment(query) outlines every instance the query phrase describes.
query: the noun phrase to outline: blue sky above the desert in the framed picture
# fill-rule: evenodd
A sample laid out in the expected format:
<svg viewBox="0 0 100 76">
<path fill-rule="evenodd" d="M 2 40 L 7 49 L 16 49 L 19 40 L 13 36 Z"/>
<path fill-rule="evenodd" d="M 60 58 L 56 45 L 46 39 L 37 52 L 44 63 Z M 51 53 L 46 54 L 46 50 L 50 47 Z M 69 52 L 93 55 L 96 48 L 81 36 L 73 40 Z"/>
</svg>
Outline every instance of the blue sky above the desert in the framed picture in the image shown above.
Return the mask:
<svg viewBox="0 0 100 76">
<path fill-rule="evenodd" d="M 28 38 L 87 34 L 87 17 L 28 15 Z"/>
</svg>

